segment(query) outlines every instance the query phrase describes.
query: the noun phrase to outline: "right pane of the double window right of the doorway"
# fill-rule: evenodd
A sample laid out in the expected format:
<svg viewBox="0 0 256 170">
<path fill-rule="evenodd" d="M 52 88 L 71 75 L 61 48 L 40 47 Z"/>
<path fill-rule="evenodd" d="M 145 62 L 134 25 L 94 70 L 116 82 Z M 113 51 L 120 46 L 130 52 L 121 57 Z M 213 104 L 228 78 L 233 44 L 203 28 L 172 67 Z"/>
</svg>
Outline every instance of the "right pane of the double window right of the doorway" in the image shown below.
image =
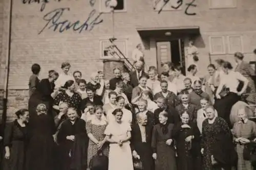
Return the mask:
<svg viewBox="0 0 256 170">
<path fill-rule="evenodd" d="M 236 52 L 243 53 L 243 42 L 241 36 L 227 36 L 228 53 L 234 54 Z"/>
</svg>

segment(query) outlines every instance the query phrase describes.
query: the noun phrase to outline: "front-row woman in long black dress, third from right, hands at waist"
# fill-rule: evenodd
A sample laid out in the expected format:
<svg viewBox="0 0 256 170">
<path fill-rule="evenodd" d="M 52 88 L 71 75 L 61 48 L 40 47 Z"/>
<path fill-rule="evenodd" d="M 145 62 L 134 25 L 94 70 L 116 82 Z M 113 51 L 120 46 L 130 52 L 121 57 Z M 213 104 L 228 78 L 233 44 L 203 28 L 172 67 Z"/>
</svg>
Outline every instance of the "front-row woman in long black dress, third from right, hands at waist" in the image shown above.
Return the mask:
<svg viewBox="0 0 256 170">
<path fill-rule="evenodd" d="M 200 131 L 195 123 L 189 121 L 189 115 L 186 112 L 181 115 L 181 123 L 175 125 L 173 137 L 176 140 L 178 170 L 193 169 L 194 164 L 198 163 L 194 162 L 193 158 L 200 155 Z"/>
</svg>

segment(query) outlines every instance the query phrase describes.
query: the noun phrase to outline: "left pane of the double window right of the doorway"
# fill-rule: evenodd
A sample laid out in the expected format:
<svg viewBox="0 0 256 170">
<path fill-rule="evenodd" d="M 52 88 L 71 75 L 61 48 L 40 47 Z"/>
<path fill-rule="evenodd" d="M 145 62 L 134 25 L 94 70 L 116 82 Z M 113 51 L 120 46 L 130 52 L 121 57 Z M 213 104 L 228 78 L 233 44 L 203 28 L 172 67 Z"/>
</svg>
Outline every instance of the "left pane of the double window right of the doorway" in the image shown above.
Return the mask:
<svg viewBox="0 0 256 170">
<path fill-rule="evenodd" d="M 209 38 L 210 54 L 225 54 L 225 41 L 223 36 L 212 36 Z"/>
</svg>

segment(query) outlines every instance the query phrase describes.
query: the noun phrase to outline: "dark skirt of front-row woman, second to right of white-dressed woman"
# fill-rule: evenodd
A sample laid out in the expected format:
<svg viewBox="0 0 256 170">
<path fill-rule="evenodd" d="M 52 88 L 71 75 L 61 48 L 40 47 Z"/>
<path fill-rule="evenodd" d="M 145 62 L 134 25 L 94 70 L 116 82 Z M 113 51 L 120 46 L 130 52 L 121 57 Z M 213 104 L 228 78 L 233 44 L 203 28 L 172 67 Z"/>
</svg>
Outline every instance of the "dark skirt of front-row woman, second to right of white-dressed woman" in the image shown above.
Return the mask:
<svg viewBox="0 0 256 170">
<path fill-rule="evenodd" d="M 165 142 L 157 143 L 157 159 L 155 161 L 155 170 L 176 170 L 176 158 L 173 147 Z"/>
</svg>

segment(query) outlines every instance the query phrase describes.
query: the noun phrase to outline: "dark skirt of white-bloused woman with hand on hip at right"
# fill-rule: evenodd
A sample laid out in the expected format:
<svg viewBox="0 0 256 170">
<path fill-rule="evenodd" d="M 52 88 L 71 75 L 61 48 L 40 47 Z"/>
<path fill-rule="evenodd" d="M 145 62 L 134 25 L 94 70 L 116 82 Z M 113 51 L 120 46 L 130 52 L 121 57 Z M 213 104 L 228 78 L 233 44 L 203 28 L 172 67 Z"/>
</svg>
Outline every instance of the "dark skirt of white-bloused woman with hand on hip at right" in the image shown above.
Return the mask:
<svg viewBox="0 0 256 170">
<path fill-rule="evenodd" d="M 241 97 L 237 93 L 229 92 L 224 98 L 215 101 L 214 107 L 218 112 L 218 116 L 224 118 L 230 128 L 232 128 L 229 118 L 231 108 L 240 99 Z"/>
</svg>

